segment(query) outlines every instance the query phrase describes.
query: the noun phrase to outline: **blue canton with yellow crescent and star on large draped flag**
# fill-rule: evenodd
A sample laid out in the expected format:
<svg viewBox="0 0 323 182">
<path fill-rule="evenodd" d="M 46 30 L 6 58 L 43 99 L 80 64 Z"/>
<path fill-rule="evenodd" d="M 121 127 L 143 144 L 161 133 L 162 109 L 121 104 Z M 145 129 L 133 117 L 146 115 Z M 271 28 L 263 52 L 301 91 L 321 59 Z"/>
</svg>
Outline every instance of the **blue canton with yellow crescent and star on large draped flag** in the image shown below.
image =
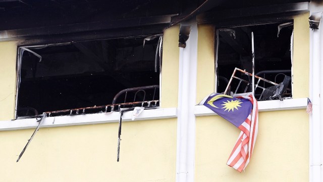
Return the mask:
<svg viewBox="0 0 323 182">
<path fill-rule="evenodd" d="M 213 100 L 215 99 L 215 101 L 209 102 L 212 98 Z M 235 101 L 239 104 L 235 104 L 236 107 L 231 107 L 233 110 L 230 110 L 228 109 L 228 107 L 226 107 L 226 103 L 230 103 L 232 101 Z M 208 97 L 203 105 L 208 107 L 221 117 L 225 118 L 226 120 L 230 121 L 236 127 L 239 127 L 247 119 L 252 109 L 252 104 L 248 99 L 233 98 L 230 96 L 220 94 Z"/>
</svg>

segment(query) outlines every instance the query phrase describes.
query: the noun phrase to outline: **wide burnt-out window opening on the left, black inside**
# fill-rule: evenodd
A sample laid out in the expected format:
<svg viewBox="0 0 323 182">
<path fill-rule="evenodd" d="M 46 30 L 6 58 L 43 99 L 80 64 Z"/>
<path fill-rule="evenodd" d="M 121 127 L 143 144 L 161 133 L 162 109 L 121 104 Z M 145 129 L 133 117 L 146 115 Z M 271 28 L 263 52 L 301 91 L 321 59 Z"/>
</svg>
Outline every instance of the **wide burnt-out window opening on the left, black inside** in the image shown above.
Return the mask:
<svg viewBox="0 0 323 182">
<path fill-rule="evenodd" d="M 145 41 L 143 46 L 144 38 L 18 48 L 16 117 L 109 105 L 123 89 L 159 85 L 160 39 Z M 116 103 L 159 100 L 159 89 L 146 90 L 145 95 L 138 92 L 134 97 L 135 93 L 127 93 L 126 100 L 123 96 Z M 104 108 L 84 113 L 100 111 L 104 112 Z M 67 114 L 71 113 L 63 113 Z"/>
</svg>

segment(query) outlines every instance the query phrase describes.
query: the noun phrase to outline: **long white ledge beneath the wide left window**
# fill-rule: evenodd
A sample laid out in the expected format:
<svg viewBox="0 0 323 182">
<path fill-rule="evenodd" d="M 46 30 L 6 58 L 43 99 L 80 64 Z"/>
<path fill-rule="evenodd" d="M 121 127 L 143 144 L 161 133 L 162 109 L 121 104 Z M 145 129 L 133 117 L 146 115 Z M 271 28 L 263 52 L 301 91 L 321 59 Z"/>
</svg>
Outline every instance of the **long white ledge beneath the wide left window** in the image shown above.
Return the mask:
<svg viewBox="0 0 323 182">
<path fill-rule="evenodd" d="M 132 121 L 131 115 L 132 111 L 124 112 L 122 116 L 122 121 Z M 177 108 L 160 108 L 144 110 L 134 121 L 166 119 L 175 117 L 177 117 Z M 84 124 L 113 123 L 119 122 L 119 118 L 120 112 L 46 117 L 40 127 L 60 127 Z M 37 125 L 38 122 L 35 118 L 0 121 L 0 131 L 36 128 Z"/>
</svg>

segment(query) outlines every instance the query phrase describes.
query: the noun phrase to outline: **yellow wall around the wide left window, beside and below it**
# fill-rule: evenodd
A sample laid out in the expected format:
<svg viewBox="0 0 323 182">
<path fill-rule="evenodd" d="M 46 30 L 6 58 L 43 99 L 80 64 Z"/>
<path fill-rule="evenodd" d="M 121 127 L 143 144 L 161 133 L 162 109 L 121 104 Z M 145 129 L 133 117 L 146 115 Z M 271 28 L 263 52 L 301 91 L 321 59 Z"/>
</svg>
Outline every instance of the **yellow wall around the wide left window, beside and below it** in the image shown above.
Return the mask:
<svg viewBox="0 0 323 182">
<path fill-rule="evenodd" d="M 178 102 L 179 26 L 165 31 L 163 107 Z M 17 42 L 0 42 L 0 120 L 14 117 Z M 2 181 L 175 181 L 177 119 L 0 131 Z"/>
</svg>

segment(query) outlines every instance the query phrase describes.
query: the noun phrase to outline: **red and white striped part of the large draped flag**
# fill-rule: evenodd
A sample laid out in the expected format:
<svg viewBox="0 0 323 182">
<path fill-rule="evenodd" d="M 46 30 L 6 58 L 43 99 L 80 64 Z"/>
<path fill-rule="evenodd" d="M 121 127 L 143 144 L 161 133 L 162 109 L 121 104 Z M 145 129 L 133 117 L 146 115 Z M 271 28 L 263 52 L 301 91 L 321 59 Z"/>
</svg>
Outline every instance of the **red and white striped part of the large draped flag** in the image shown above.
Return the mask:
<svg viewBox="0 0 323 182">
<path fill-rule="evenodd" d="M 253 95 L 249 97 L 240 96 L 238 98 L 249 99 L 253 104 L 253 109 L 247 119 L 238 127 L 241 132 L 238 140 L 230 154 L 227 164 L 239 172 L 248 165 L 258 133 L 258 104 Z M 251 134 L 251 135 L 250 135 Z"/>
</svg>

